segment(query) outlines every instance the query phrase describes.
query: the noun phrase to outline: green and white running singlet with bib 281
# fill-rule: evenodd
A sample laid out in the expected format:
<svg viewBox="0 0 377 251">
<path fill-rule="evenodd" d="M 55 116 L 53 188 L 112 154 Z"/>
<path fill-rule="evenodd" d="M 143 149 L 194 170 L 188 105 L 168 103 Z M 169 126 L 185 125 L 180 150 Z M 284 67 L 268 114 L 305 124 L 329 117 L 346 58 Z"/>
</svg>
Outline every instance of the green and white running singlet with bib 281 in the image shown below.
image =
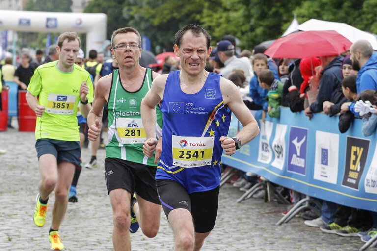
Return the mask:
<svg viewBox="0 0 377 251">
<path fill-rule="evenodd" d="M 119 70 L 112 73 L 108 97 L 107 158 L 119 158 L 140 164 L 156 166 L 155 155 L 147 158 L 143 153 L 146 134 L 141 121 L 140 104 L 152 84 L 152 70 L 146 69 L 143 84 L 136 92 L 128 92 L 122 86 Z M 156 137 L 162 134 L 162 113 L 156 107 Z"/>
</svg>

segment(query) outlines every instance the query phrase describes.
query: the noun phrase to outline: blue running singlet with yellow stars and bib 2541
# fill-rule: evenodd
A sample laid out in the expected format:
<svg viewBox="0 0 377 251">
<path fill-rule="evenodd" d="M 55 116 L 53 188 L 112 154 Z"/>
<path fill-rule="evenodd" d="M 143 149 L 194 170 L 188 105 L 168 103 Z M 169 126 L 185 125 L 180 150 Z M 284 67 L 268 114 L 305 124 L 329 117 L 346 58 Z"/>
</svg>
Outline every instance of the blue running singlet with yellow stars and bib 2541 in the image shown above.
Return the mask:
<svg viewBox="0 0 377 251">
<path fill-rule="evenodd" d="M 181 90 L 180 71 L 170 72 L 161 105 L 162 153 L 156 179 L 173 179 L 188 193 L 214 189 L 221 176 L 221 136 L 227 136 L 231 111 L 224 106 L 220 75 L 209 73 L 195 94 Z"/>
</svg>

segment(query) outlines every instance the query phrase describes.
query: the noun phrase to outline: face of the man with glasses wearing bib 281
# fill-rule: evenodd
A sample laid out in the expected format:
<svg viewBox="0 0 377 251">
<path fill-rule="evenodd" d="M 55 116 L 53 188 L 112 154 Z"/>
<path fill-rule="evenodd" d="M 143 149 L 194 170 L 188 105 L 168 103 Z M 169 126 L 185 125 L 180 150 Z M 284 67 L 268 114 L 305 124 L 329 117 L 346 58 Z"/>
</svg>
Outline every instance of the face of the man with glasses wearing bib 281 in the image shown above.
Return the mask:
<svg viewBox="0 0 377 251">
<path fill-rule="evenodd" d="M 130 46 L 119 49 L 117 46 L 121 45 L 138 45 L 138 37 L 134 32 L 120 33 L 114 38 L 115 49 L 111 49 L 111 54 L 114 60 L 118 62 L 120 66 L 134 67 L 139 63 L 141 56 L 141 48 L 131 49 Z"/>
</svg>

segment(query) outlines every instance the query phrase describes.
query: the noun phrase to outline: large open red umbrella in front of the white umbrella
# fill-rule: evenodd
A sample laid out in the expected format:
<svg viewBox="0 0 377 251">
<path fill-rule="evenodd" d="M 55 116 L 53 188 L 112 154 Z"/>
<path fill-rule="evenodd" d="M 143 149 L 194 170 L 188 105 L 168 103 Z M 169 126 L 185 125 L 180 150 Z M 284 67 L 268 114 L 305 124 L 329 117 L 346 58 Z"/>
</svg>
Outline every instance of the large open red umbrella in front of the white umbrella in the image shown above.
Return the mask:
<svg viewBox="0 0 377 251">
<path fill-rule="evenodd" d="M 339 55 L 350 49 L 352 42 L 335 30 L 302 31 L 277 39 L 265 51 L 273 58 L 305 58 Z"/>
</svg>

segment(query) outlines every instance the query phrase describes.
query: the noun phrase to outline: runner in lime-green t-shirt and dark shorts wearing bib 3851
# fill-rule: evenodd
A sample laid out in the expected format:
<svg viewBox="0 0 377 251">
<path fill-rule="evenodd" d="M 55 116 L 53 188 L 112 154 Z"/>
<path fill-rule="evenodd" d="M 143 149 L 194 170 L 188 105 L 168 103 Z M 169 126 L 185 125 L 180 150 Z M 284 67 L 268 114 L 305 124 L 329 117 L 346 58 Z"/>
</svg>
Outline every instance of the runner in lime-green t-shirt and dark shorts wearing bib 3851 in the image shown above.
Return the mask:
<svg viewBox="0 0 377 251">
<path fill-rule="evenodd" d="M 33 219 L 35 225 L 44 226 L 47 201 L 55 190 L 49 234 L 53 250 L 64 249 L 58 229 L 67 209 L 75 165 L 80 165 L 77 106 L 81 102 L 81 113 L 86 117 L 93 100 L 89 73 L 74 64 L 80 43 L 74 32 L 61 34 L 56 46 L 59 59 L 35 70 L 26 94 L 27 103 L 37 115 L 35 148 L 41 173 Z"/>
</svg>

